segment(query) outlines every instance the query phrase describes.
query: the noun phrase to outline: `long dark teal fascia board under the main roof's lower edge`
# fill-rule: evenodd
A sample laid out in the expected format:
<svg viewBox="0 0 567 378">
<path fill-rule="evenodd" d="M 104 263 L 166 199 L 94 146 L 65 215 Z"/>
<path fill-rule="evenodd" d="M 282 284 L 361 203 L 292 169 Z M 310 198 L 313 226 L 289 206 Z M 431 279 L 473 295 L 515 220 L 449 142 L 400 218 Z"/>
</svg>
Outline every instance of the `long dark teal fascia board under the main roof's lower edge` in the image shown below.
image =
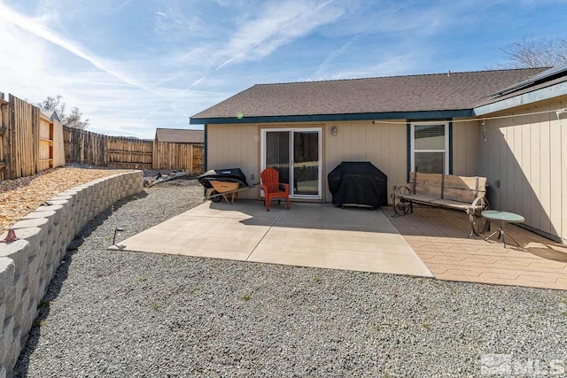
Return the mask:
<svg viewBox="0 0 567 378">
<path fill-rule="evenodd" d="M 275 123 L 275 122 L 322 122 L 339 120 L 439 120 L 474 117 L 472 109 L 456 109 L 452 111 L 421 112 L 373 112 L 353 114 L 312 114 L 285 115 L 265 117 L 225 117 L 225 118 L 190 118 L 191 125 L 234 124 L 234 123 Z"/>
</svg>

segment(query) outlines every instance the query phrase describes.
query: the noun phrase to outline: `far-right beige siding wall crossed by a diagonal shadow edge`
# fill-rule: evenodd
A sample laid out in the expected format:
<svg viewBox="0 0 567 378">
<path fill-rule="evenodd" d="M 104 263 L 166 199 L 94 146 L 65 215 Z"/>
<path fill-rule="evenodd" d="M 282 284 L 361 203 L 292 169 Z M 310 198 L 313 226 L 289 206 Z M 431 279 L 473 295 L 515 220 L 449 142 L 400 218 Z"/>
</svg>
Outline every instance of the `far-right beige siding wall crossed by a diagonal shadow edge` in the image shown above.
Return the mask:
<svg viewBox="0 0 567 378">
<path fill-rule="evenodd" d="M 567 96 L 511 111 L 524 114 L 567 107 Z M 555 112 L 486 120 L 487 140 L 480 142 L 480 172 L 491 185 L 496 209 L 517 212 L 525 223 L 567 238 L 567 117 Z M 497 187 L 500 181 L 500 188 Z"/>
</svg>

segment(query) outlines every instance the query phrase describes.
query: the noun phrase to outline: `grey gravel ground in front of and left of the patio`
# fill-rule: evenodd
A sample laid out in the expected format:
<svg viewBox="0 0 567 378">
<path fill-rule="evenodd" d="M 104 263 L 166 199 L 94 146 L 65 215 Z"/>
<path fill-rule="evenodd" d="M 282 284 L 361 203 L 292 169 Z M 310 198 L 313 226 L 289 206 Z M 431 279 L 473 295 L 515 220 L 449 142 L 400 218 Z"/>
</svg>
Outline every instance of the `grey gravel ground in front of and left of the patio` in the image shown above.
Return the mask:
<svg viewBox="0 0 567 378">
<path fill-rule="evenodd" d="M 115 227 L 124 239 L 201 197 L 158 186 L 93 220 L 16 375 L 454 377 L 480 375 L 484 353 L 566 357 L 563 291 L 106 250 Z"/>
</svg>

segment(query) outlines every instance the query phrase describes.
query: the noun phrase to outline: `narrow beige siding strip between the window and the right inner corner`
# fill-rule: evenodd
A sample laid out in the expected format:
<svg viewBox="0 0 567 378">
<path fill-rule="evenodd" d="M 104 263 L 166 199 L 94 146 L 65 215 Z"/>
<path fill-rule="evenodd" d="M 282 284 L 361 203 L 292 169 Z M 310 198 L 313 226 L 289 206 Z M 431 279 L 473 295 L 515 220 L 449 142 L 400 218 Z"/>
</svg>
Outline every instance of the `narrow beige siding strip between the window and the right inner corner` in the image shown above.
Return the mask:
<svg viewBox="0 0 567 378">
<path fill-rule="evenodd" d="M 478 120 L 453 122 L 453 174 L 460 176 L 477 176 L 478 143 L 480 143 L 481 128 Z"/>
</svg>

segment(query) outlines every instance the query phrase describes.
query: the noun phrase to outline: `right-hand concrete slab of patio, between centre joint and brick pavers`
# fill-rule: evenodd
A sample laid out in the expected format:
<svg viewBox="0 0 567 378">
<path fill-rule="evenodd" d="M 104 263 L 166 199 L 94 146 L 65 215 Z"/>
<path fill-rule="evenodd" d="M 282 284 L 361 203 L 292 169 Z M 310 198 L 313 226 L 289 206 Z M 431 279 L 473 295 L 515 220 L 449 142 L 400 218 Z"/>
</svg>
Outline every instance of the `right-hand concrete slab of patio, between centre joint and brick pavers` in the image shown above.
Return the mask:
<svg viewBox="0 0 567 378">
<path fill-rule="evenodd" d="M 249 261 L 431 276 L 384 213 L 329 204 L 283 212 Z"/>
</svg>

